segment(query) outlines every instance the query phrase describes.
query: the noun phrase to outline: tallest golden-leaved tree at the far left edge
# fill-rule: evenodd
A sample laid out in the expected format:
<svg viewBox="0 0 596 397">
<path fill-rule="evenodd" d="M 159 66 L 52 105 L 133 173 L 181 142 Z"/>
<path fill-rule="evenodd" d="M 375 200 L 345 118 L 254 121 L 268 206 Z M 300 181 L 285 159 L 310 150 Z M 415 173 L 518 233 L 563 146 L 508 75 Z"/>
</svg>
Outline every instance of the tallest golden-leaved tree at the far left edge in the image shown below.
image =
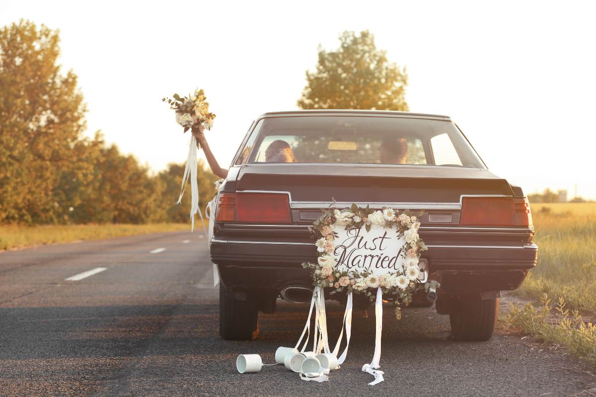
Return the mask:
<svg viewBox="0 0 596 397">
<path fill-rule="evenodd" d="M 56 60 L 58 33 L 20 21 L 0 30 L 0 221 L 57 222 L 55 188 L 76 164 L 83 96 Z M 89 168 L 87 167 L 87 171 Z"/>
</svg>

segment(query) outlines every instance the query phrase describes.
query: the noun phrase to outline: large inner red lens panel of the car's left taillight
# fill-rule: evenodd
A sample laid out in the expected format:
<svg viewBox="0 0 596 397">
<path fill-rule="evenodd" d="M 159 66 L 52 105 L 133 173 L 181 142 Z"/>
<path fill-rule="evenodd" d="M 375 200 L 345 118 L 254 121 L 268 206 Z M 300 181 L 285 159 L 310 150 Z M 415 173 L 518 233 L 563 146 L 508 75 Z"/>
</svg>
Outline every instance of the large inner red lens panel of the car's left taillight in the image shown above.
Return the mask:
<svg viewBox="0 0 596 397">
<path fill-rule="evenodd" d="M 290 223 L 290 200 L 284 193 L 237 193 L 237 222 Z"/>
</svg>

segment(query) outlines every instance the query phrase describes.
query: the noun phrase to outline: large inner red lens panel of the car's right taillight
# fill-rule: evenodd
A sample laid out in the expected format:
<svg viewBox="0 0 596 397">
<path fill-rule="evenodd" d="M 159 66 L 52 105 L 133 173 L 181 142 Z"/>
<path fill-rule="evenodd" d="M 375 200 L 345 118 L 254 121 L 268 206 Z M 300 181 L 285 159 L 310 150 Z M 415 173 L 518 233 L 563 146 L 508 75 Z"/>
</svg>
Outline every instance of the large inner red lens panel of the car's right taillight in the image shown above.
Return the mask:
<svg viewBox="0 0 596 397">
<path fill-rule="evenodd" d="M 513 226 L 513 197 L 464 197 L 460 225 Z"/>
</svg>

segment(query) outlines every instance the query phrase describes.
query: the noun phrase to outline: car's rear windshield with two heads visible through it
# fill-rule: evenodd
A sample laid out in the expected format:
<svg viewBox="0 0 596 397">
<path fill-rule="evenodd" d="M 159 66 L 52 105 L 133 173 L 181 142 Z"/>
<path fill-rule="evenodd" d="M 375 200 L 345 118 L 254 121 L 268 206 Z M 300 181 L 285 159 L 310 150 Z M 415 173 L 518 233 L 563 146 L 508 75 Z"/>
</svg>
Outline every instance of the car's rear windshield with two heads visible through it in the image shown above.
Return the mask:
<svg viewBox="0 0 596 397">
<path fill-rule="evenodd" d="M 235 161 L 287 162 L 485 168 L 451 121 L 361 115 L 263 118 Z"/>
</svg>

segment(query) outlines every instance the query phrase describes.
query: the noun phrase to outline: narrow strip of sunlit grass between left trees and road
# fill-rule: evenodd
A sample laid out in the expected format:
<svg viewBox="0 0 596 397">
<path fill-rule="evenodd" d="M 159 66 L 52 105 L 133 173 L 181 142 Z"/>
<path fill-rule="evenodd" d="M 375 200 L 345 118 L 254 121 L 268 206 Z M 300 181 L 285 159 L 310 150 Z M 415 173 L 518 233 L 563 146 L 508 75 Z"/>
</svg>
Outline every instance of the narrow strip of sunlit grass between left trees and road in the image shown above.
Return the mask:
<svg viewBox="0 0 596 397">
<path fill-rule="evenodd" d="M 104 238 L 179 230 L 190 232 L 190 223 L 151 223 L 149 225 L 0 225 L 0 250 L 80 240 L 103 240 Z M 200 222 L 195 223 L 195 230 L 202 232 Z"/>
</svg>

